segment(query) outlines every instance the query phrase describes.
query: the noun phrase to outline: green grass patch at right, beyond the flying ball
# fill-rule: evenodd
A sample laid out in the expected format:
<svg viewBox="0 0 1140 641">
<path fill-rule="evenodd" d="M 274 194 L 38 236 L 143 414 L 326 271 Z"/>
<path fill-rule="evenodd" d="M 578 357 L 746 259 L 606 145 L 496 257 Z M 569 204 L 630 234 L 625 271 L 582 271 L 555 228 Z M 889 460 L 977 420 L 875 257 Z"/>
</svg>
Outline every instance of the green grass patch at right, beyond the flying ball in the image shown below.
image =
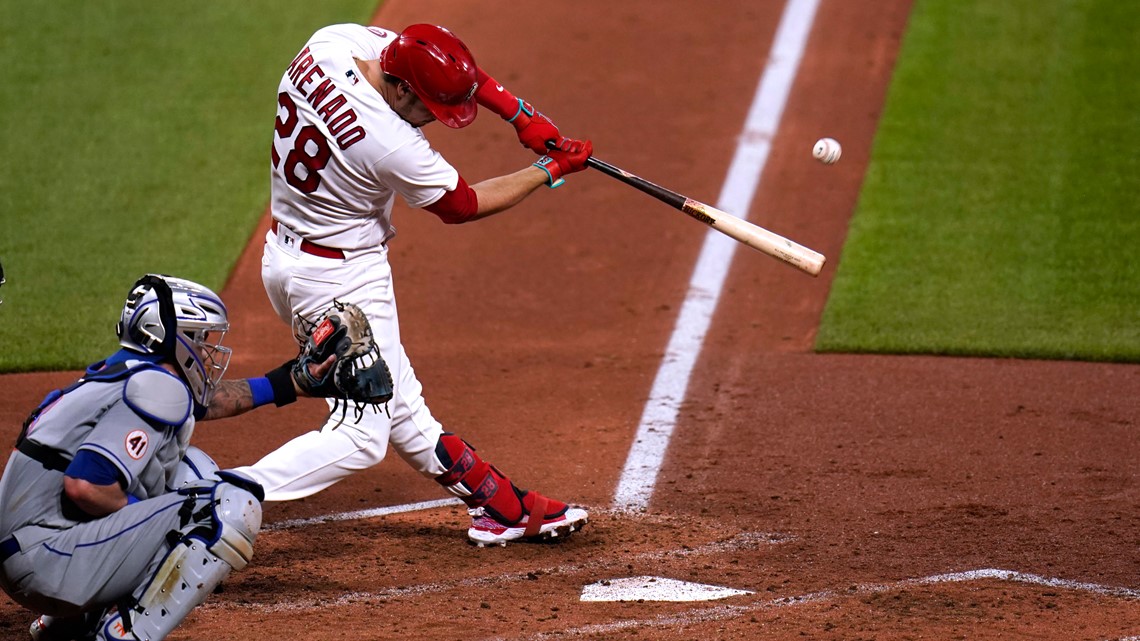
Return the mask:
<svg viewBox="0 0 1140 641">
<path fill-rule="evenodd" d="M 1140 13 L 917 0 L 821 351 L 1140 362 Z"/>
</svg>

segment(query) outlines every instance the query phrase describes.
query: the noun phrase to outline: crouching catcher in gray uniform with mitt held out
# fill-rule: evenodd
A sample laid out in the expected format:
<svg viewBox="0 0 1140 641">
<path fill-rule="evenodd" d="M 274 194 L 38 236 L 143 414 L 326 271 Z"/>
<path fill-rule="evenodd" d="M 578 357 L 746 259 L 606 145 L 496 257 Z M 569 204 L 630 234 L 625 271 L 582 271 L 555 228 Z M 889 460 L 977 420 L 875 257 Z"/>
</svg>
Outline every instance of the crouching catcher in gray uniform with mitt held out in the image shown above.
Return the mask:
<svg viewBox="0 0 1140 641">
<path fill-rule="evenodd" d="M 391 379 L 358 313 L 334 306 L 301 357 L 223 381 L 221 299 L 181 278 L 136 282 L 122 349 L 43 399 L 0 479 L 0 586 L 40 615 L 32 639 L 161 641 L 244 568 L 263 490 L 192 446 L 195 424 L 298 393 L 383 403 Z"/>
</svg>

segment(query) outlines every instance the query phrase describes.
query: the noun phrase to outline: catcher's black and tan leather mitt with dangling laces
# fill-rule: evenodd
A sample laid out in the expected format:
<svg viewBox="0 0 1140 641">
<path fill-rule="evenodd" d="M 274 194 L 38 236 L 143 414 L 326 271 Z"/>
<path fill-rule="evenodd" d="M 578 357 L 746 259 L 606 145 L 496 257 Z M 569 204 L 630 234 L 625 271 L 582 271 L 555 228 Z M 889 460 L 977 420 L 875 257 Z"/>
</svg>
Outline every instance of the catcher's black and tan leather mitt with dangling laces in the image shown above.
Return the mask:
<svg viewBox="0 0 1140 641">
<path fill-rule="evenodd" d="M 298 328 L 303 342 L 292 373 L 307 395 L 351 401 L 358 420 L 365 405 L 392 398 L 392 374 L 359 307 L 334 300 L 316 322 L 298 317 Z M 331 355 L 336 355 L 332 368 L 320 379 L 314 376 L 309 365 L 320 365 Z"/>
</svg>

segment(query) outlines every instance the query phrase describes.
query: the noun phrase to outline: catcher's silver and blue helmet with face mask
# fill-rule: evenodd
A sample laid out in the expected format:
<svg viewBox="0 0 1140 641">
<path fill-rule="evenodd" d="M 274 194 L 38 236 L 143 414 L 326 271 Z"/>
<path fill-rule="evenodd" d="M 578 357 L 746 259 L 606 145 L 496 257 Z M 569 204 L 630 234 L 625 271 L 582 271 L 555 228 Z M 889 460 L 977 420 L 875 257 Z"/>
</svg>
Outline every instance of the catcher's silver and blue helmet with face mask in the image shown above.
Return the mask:
<svg viewBox="0 0 1140 641">
<path fill-rule="evenodd" d="M 202 408 L 210 405 L 229 366 L 230 349 L 221 346 L 227 331 L 229 319 L 218 294 L 158 274 L 135 283 L 115 326 L 127 349 L 157 355 L 174 365 Z"/>
</svg>

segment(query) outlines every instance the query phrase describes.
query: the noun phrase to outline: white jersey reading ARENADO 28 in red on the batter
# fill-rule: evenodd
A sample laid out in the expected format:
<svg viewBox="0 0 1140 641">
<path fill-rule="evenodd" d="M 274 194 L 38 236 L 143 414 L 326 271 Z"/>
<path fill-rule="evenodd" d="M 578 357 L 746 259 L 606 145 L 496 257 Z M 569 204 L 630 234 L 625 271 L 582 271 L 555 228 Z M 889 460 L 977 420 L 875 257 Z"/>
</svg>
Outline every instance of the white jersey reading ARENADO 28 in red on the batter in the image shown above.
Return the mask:
<svg viewBox="0 0 1140 641">
<path fill-rule="evenodd" d="M 272 216 L 310 242 L 367 250 L 393 234 L 392 203 L 413 208 L 455 189 L 459 175 L 404 121 L 353 58 L 377 59 L 396 33 L 332 25 L 282 78 L 272 145 Z"/>
</svg>

